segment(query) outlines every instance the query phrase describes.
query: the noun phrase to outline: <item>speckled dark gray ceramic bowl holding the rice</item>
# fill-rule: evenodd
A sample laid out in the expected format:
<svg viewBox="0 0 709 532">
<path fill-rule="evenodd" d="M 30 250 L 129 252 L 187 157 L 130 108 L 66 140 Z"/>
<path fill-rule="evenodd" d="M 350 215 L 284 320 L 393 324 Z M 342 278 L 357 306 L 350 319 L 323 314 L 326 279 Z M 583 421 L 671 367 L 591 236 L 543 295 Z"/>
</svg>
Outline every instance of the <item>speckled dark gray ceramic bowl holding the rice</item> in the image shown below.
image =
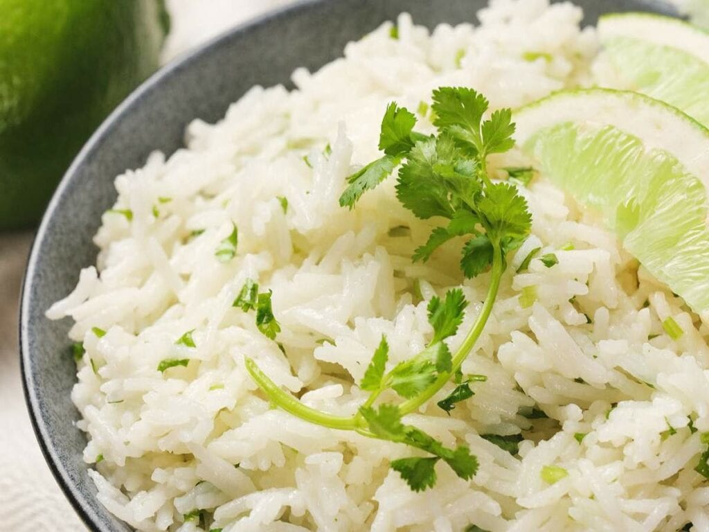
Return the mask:
<svg viewBox="0 0 709 532">
<path fill-rule="evenodd" d="M 676 14 L 652 0 L 575 0 L 585 23 L 610 11 Z M 310 0 L 226 33 L 164 68 L 135 91 L 96 131 L 62 180 L 30 254 L 21 301 L 20 347 L 26 399 L 35 432 L 57 482 L 94 531 L 128 531 L 96 501 L 86 475 L 84 434 L 69 393 L 75 366 L 68 354 L 69 320 L 44 312 L 68 294 L 79 270 L 94 264 L 91 237 L 116 198 L 113 177 L 140 167 L 152 150 L 173 153 L 193 118 L 216 121 L 254 84 L 289 85 L 296 67 L 317 69 L 350 40 L 401 11 L 416 23 L 474 21 L 485 0 Z M 549 28 L 554 31 L 554 28 Z"/>
</svg>

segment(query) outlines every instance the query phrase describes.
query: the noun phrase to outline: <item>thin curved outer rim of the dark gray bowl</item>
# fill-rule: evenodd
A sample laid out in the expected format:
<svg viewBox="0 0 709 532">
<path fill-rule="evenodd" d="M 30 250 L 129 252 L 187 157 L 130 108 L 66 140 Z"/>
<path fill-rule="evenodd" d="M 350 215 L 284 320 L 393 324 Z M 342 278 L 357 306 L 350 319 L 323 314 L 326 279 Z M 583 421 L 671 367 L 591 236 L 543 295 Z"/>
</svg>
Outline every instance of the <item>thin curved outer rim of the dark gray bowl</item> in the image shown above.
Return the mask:
<svg viewBox="0 0 709 532">
<path fill-rule="evenodd" d="M 40 409 L 36 392 L 37 385 L 35 382 L 35 376 L 30 370 L 31 348 L 28 322 L 30 318 L 29 309 L 33 304 L 31 297 L 32 290 L 30 287 L 33 285 L 38 268 L 38 261 L 40 259 L 40 242 L 42 242 L 45 238 L 52 214 L 56 211 L 61 197 L 65 194 L 65 190 L 67 189 L 69 182 L 73 179 L 74 174 L 77 173 L 77 170 L 79 170 L 79 168 L 82 167 L 87 160 L 90 160 L 96 150 L 101 149 L 101 144 L 103 143 L 104 138 L 108 135 L 116 123 L 120 121 L 121 116 L 130 111 L 130 109 L 133 109 L 134 106 L 137 106 L 147 92 L 160 87 L 160 85 L 170 77 L 186 68 L 191 67 L 191 65 L 195 62 L 199 62 L 202 57 L 213 48 L 219 48 L 220 46 L 226 45 L 233 38 L 242 35 L 243 33 L 249 33 L 250 31 L 278 18 L 289 16 L 291 13 L 305 11 L 306 9 L 310 9 L 318 4 L 324 4 L 328 1 L 338 0 L 295 0 L 292 4 L 261 13 L 254 18 L 242 21 L 241 23 L 238 23 L 225 31 L 218 33 L 201 45 L 198 45 L 193 50 L 183 52 L 181 55 L 178 55 L 173 60 L 169 61 L 167 65 L 164 65 L 159 70 L 154 72 L 150 77 L 145 79 L 144 82 L 138 85 L 138 87 L 134 89 L 133 92 L 131 92 L 123 101 L 121 101 L 121 104 L 118 104 L 116 109 L 113 109 L 104 121 L 101 122 L 99 128 L 91 134 L 89 140 L 86 140 L 86 143 L 83 145 L 82 149 L 79 150 L 79 153 L 76 157 L 74 157 L 74 160 L 72 160 L 72 164 L 69 165 L 69 168 L 62 176 L 55 192 L 52 194 L 52 199 L 50 199 L 50 202 L 42 215 L 42 220 L 40 221 L 40 225 L 33 236 L 32 245 L 30 246 L 26 270 L 22 279 L 18 309 L 18 343 L 23 395 L 25 399 L 25 406 L 27 407 L 29 414 L 30 423 L 32 424 L 35 438 L 40 450 L 42 451 L 45 462 L 52 472 L 52 476 L 55 481 L 62 490 L 62 493 L 72 505 L 72 508 L 79 516 L 79 519 L 83 521 L 84 525 L 86 525 L 90 531 L 101 532 L 103 530 L 103 526 L 96 519 L 96 514 L 91 508 L 89 501 L 86 500 L 81 492 L 79 492 L 79 489 L 77 489 L 76 485 L 69 477 L 65 466 L 62 464 L 62 460 L 60 460 L 59 453 L 57 453 L 56 446 L 52 444 L 49 436 L 48 423 L 46 423 L 43 418 L 42 411 Z"/>
</svg>

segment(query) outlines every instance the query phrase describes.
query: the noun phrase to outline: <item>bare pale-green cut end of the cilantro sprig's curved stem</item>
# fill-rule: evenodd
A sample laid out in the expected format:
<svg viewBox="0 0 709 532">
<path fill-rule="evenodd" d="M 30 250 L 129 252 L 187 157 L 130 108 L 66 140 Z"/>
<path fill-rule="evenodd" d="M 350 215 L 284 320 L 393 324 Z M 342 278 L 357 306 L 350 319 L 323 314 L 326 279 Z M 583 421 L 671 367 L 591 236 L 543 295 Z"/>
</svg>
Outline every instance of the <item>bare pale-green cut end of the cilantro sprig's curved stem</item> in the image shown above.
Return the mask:
<svg viewBox="0 0 709 532">
<path fill-rule="evenodd" d="M 258 387 L 267 394 L 269 400 L 289 414 L 293 414 L 306 421 L 311 421 L 311 423 L 317 423 L 318 425 L 328 428 L 337 428 L 341 431 L 353 431 L 367 427 L 367 423 L 362 423 L 356 416 L 333 416 L 333 414 L 311 409 L 310 406 L 304 405 L 291 394 L 284 392 L 275 382 L 269 379 L 264 372 L 259 370 L 259 367 L 253 359 L 246 357 L 244 358 L 244 362 L 247 372 L 249 372 L 249 375 L 251 375 L 251 378 L 254 379 Z"/>
</svg>

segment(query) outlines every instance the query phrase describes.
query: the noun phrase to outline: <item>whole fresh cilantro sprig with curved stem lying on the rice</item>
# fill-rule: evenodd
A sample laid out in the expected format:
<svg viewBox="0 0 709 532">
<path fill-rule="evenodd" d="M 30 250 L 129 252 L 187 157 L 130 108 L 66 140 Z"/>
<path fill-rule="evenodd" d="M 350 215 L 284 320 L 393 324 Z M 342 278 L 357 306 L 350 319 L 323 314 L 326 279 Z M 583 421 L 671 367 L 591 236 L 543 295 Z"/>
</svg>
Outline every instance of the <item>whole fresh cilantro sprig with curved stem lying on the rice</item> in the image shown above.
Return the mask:
<svg viewBox="0 0 709 532">
<path fill-rule="evenodd" d="M 492 312 L 507 267 L 506 256 L 523 243 L 532 221 L 517 188 L 506 182 L 493 182 L 487 170 L 489 155 L 504 153 L 514 145 L 515 125 L 510 109 L 488 114 L 485 97 L 465 87 L 437 89 L 432 101 L 435 135 L 414 131 L 416 116 L 408 109 L 396 103 L 387 107 L 379 135 L 379 149 L 384 155 L 347 179 L 340 205 L 354 209 L 362 194 L 374 189 L 398 167 L 399 202 L 417 218 L 437 218 L 443 222 L 415 250 L 413 260 L 425 262 L 437 248 L 459 238 L 463 241 L 460 259 L 463 275 L 476 277 L 489 272 L 484 304 L 457 350 L 452 353 L 449 338 L 457 334 L 468 303 L 461 289 L 452 289 L 445 297 L 429 301 L 428 321 L 433 333 L 420 353 L 388 370 L 389 343 L 382 336 L 360 382 L 369 397 L 352 416 L 335 416 L 304 405 L 269 379 L 254 360 L 245 359 L 252 379 L 272 404 L 284 411 L 321 426 L 356 431 L 425 453 L 391 462 L 391 468 L 414 491 L 435 484 L 438 462 L 445 462 L 464 480 L 471 479 L 478 469 L 478 462 L 466 445 L 448 448 L 419 428 L 406 424 L 404 417 L 426 404 L 454 378 L 457 386 L 437 402 L 450 414 L 457 403 L 474 395 L 472 382 L 484 381 L 484 376 L 464 379 L 460 368 Z M 508 170 L 510 177 L 527 177 L 530 172 L 526 168 Z M 379 401 L 387 390 L 400 400 Z M 501 443 L 510 452 L 515 450 L 515 441 L 501 440 L 498 445 Z"/>
</svg>

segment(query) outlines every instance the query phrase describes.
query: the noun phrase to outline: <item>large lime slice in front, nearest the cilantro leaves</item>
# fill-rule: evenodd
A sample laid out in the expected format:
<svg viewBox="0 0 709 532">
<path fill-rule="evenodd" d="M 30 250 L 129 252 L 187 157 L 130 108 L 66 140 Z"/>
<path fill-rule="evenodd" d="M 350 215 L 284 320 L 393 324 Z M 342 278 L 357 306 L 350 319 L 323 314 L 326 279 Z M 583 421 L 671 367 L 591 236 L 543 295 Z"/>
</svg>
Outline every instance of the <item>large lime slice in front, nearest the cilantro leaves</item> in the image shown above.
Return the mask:
<svg viewBox="0 0 709 532">
<path fill-rule="evenodd" d="M 652 274 L 709 318 L 709 130 L 634 92 L 559 92 L 515 113 L 542 175 L 598 211 Z"/>
</svg>

